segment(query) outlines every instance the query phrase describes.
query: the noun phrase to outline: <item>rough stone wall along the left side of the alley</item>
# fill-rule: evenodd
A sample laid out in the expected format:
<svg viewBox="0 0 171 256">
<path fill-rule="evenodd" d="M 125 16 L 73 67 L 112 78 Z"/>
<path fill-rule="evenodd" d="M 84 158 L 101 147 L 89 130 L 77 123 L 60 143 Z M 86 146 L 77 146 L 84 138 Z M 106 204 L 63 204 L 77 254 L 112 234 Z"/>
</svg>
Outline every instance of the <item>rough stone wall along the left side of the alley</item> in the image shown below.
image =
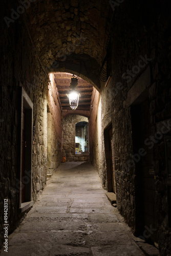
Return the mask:
<svg viewBox="0 0 171 256">
<path fill-rule="evenodd" d="M 10 1 L 1 9 L 1 16 L 11 15 L 11 9 L 17 9 L 17 3 Z M 4 199 L 8 199 L 8 223 L 11 232 L 23 217 L 19 211 L 19 108 L 20 96 L 19 86 L 23 86 L 31 101 L 33 102 L 33 125 L 35 126 L 35 144 L 33 145 L 33 184 L 32 200 L 36 201 L 37 195 L 44 189 L 47 173 L 47 104 L 51 113 L 51 130 L 53 130 L 52 154 L 55 158 L 58 154 L 58 147 L 55 143 L 58 136 L 61 137 L 61 126 L 56 124 L 57 106 L 52 103 L 48 94 L 48 74 L 42 68 L 42 63 L 35 53 L 35 48 L 25 26 L 25 15 L 8 27 L 5 22 L 0 25 L 3 31 L 1 40 L 1 71 L 0 71 L 0 155 L 1 155 L 1 174 L 0 174 L 0 246 L 3 243 L 3 224 L 4 224 Z M 49 117 L 48 117 L 49 118 Z M 56 139 L 55 139 L 56 138 Z M 59 143 L 60 144 L 60 143 Z M 55 145 L 55 146 L 54 146 Z M 56 150 L 56 152 L 55 152 Z M 60 148 L 61 150 L 61 148 Z M 58 161 L 52 166 L 56 169 Z M 57 158 L 56 158 L 57 159 Z M 53 160 L 55 161 L 55 160 Z"/>
</svg>

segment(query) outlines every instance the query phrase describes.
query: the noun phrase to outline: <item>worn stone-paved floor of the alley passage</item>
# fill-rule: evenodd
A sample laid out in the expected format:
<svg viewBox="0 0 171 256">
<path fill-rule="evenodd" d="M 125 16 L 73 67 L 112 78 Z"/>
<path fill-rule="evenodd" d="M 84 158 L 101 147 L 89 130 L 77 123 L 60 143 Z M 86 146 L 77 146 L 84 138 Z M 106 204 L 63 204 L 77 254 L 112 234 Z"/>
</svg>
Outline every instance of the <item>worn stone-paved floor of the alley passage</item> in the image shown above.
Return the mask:
<svg viewBox="0 0 171 256">
<path fill-rule="evenodd" d="M 62 163 L 2 255 L 144 255 L 105 192 L 91 164 Z"/>
</svg>

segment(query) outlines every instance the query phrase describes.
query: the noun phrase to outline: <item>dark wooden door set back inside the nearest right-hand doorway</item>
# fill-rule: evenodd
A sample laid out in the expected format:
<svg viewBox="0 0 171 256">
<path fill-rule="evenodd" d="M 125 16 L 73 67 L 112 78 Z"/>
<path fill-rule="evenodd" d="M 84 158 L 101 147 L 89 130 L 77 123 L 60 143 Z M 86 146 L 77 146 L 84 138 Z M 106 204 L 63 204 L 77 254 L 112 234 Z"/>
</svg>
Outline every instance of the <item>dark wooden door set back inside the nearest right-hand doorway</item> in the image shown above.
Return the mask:
<svg viewBox="0 0 171 256">
<path fill-rule="evenodd" d="M 144 226 L 156 229 L 156 204 L 155 204 L 155 176 L 153 166 L 153 144 L 145 145 L 144 141 L 152 135 L 149 119 L 148 100 L 141 104 L 141 145 L 144 148 L 146 155 L 142 156 L 142 188 L 143 188 L 143 211 L 144 211 Z M 150 141 L 148 139 L 148 141 Z M 156 229 L 157 230 L 157 229 Z M 149 234 L 149 240 L 157 242 L 157 231 Z"/>
</svg>

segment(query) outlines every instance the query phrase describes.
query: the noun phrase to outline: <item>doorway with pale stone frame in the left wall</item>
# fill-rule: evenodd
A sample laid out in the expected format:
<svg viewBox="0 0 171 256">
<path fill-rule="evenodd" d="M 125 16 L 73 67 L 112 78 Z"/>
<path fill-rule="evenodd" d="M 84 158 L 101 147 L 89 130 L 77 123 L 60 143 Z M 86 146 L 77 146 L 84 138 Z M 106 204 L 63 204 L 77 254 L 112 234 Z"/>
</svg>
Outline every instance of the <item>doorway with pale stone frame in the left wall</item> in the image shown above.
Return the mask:
<svg viewBox="0 0 171 256">
<path fill-rule="evenodd" d="M 32 201 L 32 144 L 33 103 L 20 87 L 20 176 L 19 208 L 23 212 L 33 205 Z"/>
</svg>

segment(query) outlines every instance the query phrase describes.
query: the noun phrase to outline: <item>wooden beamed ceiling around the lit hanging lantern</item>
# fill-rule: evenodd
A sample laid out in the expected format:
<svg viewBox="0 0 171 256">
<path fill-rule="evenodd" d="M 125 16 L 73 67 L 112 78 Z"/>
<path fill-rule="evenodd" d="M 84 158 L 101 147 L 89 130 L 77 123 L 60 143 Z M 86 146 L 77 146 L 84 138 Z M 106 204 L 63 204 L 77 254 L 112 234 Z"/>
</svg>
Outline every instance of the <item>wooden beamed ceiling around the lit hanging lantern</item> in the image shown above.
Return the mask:
<svg viewBox="0 0 171 256">
<path fill-rule="evenodd" d="M 67 94 L 71 91 L 70 83 L 72 74 L 69 73 L 54 73 L 54 79 L 59 94 L 59 100 L 62 110 L 71 110 L 69 98 Z M 80 93 L 77 110 L 90 110 L 93 86 L 86 80 L 79 77 L 77 92 Z"/>
</svg>

